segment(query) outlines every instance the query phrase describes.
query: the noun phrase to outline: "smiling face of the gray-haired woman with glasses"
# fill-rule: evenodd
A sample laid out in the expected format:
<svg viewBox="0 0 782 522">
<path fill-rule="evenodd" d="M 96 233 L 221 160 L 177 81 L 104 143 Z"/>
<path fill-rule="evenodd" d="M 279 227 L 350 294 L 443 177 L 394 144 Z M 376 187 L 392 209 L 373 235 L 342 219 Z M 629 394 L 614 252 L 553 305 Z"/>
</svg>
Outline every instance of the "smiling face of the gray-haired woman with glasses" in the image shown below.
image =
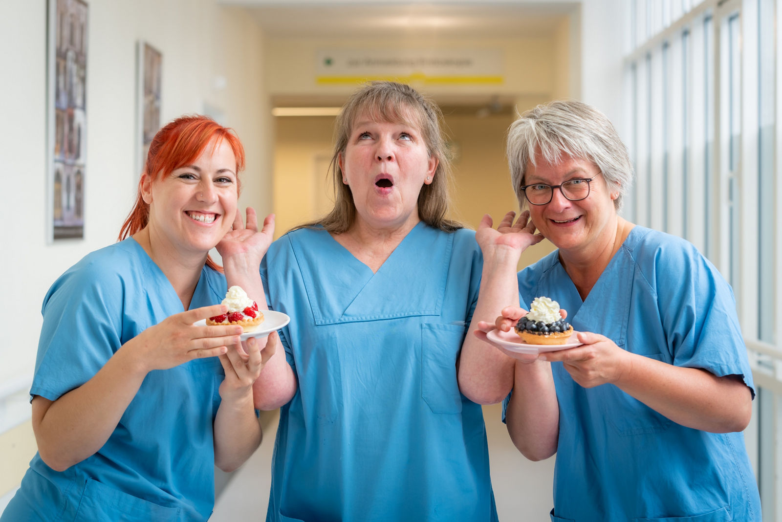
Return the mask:
<svg viewBox="0 0 782 522">
<path fill-rule="evenodd" d="M 549 163 L 536 156 L 536 165 L 528 163 L 525 184 L 558 185 L 574 178 L 591 178 L 600 170 L 587 159 L 563 156 Z M 570 201 L 558 188 L 546 205 L 528 205 L 530 216 L 543 237 L 554 243 L 565 255 L 568 252 L 589 252 L 590 247 L 603 248 L 607 238 L 616 231 L 614 199 L 618 192 L 608 191 L 602 176 L 590 182 L 590 195 L 580 201 Z"/>
</svg>

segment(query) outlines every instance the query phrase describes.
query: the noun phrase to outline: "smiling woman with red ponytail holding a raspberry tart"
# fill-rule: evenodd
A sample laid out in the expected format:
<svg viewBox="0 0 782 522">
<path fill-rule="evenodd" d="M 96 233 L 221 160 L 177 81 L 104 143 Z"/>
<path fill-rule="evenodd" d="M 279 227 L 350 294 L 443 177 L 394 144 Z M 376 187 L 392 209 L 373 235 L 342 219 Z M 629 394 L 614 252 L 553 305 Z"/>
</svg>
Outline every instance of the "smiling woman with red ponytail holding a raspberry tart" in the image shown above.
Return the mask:
<svg viewBox="0 0 782 522">
<path fill-rule="evenodd" d="M 213 466 L 233 470 L 260 444 L 252 385 L 274 343 L 195 325 L 225 313 L 229 284 L 264 297 L 274 220 L 259 232 L 248 208 L 242 223 L 243 167 L 230 129 L 168 123 L 120 241 L 49 289 L 30 389 L 38 453 L 3 521 L 206 520 Z"/>
</svg>

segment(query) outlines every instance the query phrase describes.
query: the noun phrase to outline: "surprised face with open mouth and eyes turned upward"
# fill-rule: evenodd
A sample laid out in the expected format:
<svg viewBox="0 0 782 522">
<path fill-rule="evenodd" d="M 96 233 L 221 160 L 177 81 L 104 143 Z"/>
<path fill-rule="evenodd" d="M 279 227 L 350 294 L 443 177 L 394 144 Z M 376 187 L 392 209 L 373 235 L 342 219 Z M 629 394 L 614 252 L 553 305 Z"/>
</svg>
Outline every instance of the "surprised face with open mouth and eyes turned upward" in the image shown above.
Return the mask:
<svg viewBox="0 0 782 522">
<path fill-rule="evenodd" d="M 362 224 L 394 229 L 418 223 L 418 194 L 437 168 L 418 125 L 362 113 L 338 161 Z"/>
</svg>

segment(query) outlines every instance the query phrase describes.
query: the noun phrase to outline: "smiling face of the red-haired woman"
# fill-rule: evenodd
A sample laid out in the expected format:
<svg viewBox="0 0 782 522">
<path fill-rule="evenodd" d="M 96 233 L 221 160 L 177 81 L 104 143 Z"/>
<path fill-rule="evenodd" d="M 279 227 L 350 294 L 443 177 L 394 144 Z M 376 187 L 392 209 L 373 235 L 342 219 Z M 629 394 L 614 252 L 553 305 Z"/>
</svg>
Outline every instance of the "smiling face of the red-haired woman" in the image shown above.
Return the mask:
<svg viewBox="0 0 782 522">
<path fill-rule="evenodd" d="M 211 141 L 190 165 L 152 181 L 144 174 L 150 240 L 177 252 L 206 256 L 236 216 L 236 158 L 227 141 Z"/>
</svg>

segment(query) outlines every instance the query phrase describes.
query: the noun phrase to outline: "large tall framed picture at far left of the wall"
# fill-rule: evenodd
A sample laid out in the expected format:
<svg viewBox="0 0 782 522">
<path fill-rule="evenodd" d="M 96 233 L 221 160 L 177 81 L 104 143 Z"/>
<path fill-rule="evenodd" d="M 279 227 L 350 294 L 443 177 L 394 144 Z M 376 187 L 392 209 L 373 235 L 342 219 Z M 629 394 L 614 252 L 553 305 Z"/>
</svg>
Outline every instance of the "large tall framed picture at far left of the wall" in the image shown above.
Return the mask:
<svg viewBox="0 0 782 522">
<path fill-rule="evenodd" d="M 88 6 L 48 0 L 48 239 L 84 238 Z"/>
</svg>

